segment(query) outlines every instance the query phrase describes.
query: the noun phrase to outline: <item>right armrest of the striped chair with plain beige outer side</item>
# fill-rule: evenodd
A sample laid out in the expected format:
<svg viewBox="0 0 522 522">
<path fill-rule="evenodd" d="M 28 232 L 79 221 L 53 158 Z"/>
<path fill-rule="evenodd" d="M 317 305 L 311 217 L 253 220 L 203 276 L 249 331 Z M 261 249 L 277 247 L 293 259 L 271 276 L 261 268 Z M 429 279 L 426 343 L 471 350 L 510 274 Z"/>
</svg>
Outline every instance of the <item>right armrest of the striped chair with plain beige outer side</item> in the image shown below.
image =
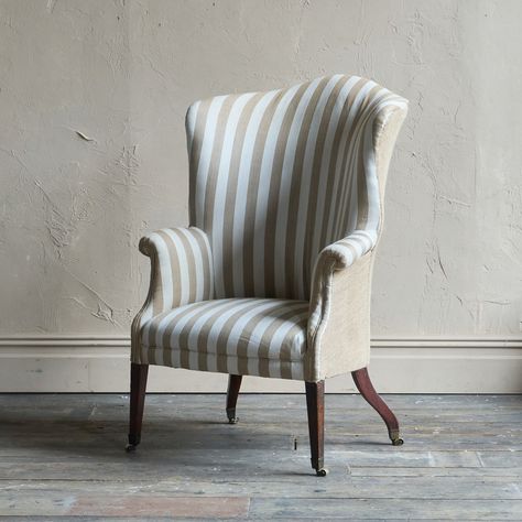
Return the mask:
<svg viewBox="0 0 522 522">
<path fill-rule="evenodd" d="M 306 380 L 318 381 L 368 365 L 376 242 L 376 232 L 356 230 L 319 252 L 307 325 Z"/>
</svg>

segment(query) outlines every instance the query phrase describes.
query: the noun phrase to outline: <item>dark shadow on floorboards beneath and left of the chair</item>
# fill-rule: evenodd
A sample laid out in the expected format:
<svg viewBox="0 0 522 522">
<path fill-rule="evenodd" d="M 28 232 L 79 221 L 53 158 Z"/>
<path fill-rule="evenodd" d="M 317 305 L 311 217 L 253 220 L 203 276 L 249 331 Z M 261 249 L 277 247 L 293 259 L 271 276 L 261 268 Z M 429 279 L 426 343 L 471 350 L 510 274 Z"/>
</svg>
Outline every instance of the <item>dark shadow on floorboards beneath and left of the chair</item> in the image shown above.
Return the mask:
<svg viewBox="0 0 522 522">
<path fill-rule="evenodd" d="M 260 464 L 270 458 L 275 452 L 289 458 L 308 458 L 308 434 L 306 411 L 303 406 L 302 422 L 281 422 L 281 415 L 272 411 L 271 414 L 259 416 L 259 410 L 246 409 L 237 425 L 227 422 L 225 412 L 213 409 L 194 411 L 184 405 L 176 409 L 171 404 L 159 407 L 149 404 L 145 410 L 143 439 L 137 452 L 124 452 L 128 433 L 128 407 L 124 404 L 99 404 L 94 400 L 87 407 L 56 409 L 51 403 L 39 404 L 37 410 L 19 412 L 9 409 L 1 412 L 2 429 L 0 445 L 13 455 L 34 454 L 35 459 L 59 455 L 75 457 L 90 455 L 110 460 L 156 461 L 167 457 L 180 461 L 194 461 L 195 453 L 204 465 L 205 455 L 207 465 L 215 458 L 240 466 L 248 454 L 255 455 Z M 47 407 L 48 406 L 48 407 Z M 370 412 L 369 412 L 370 414 Z M 272 418 L 273 417 L 273 418 Z M 346 415 L 347 431 L 349 414 Z M 378 423 L 376 423 L 378 425 Z M 352 428 L 357 426 L 352 426 Z M 341 441 L 346 449 L 387 446 L 385 432 L 382 429 L 382 441 L 376 435 L 355 436 L 347 434 Z M 338 441 L 336 436 L 336 444 Z M 327 436 L 328 447 L 328 436 Z M 338 446 L 337 446 L 338 447 Z M 263 456 L 265 455 L 265 456 Z M 250 460 L 250 459 L 248 459 Z M 296 461 L 295 470 L 300 469 Z M 273 471 L 271 471 L 273 472 Z"/>
</svg>

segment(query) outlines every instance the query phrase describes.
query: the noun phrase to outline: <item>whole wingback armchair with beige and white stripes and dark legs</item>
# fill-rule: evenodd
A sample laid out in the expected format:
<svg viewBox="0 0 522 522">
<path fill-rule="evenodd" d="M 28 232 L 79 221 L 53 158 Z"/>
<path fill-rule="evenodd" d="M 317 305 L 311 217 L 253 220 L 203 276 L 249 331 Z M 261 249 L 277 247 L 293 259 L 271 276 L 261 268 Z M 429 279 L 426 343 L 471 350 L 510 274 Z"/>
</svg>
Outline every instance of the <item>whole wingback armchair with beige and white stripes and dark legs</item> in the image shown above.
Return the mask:
<svg viewBox="0 0 522 522">
<path fill-rule="evenodd" d="M 186 116 L 187 228 L 144 237 L 132 323 L 129 449 L 149 365 L 305 382 L 312 467 L 324 469 L 324 382 L 352 374 L 402 444 L 368 376 L 372 265 L 407 101 L 358 76 L 196 101 Z"/>
</svg>

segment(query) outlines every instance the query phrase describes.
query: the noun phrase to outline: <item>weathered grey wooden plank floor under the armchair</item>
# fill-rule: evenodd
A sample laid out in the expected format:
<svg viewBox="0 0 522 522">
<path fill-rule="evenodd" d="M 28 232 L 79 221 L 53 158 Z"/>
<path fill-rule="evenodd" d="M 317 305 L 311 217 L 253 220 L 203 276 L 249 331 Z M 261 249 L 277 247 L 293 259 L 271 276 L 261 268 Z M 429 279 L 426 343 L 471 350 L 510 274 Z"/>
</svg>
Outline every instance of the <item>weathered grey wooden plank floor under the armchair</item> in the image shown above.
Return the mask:
<svg viewBox="0 0 522 522">
<path fill-rule="evenodd" d="M 387 398 L 388 444 L 358 395 L 326 398 L 326 465 L 309 467 L 304 395 L 0 395 L 0 515 L 12 520 L 522 520 L 522 398 Z M 297 449 L 295 448 L 297 441 Z"/>
</svg>

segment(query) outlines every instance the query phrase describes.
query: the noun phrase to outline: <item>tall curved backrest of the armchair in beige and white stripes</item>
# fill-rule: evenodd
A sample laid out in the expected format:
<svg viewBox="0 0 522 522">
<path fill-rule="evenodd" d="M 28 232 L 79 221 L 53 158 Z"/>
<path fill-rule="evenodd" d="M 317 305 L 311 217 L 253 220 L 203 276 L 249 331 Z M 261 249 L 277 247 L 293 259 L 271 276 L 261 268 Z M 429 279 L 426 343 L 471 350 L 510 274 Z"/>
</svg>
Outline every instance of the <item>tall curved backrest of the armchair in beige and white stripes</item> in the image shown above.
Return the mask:
<svg viewBox="0 0 522 522">
<path fill-rule="evenodd" d="M 373 247 L 372 122 L 403 102 L 334 75 L 189 108 L 191 220 L 210 240 L 216 297 L 307 300 L 324 247 L 355 231 L 357 251 Z"/>
</svg>

